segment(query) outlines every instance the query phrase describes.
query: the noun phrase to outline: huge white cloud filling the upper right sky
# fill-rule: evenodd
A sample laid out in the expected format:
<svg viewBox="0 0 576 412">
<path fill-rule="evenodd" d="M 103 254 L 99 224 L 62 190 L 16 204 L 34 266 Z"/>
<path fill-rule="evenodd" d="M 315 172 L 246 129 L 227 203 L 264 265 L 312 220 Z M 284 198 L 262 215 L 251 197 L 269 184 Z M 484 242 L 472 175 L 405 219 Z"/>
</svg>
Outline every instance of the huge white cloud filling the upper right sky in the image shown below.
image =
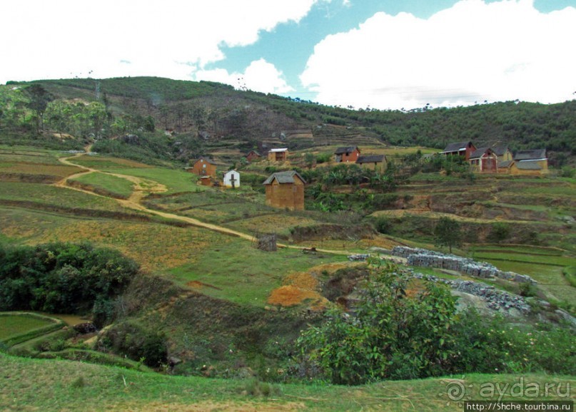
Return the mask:
<svg viewBox="0 0 576 412">
<path fill-rule="evenodd" d="M 317 101 L 415 108 L 573 98 L 576 9 L 463 0 L 429 19 L 375 14 L 315 46 L 300 80 Z"/>
</svg>

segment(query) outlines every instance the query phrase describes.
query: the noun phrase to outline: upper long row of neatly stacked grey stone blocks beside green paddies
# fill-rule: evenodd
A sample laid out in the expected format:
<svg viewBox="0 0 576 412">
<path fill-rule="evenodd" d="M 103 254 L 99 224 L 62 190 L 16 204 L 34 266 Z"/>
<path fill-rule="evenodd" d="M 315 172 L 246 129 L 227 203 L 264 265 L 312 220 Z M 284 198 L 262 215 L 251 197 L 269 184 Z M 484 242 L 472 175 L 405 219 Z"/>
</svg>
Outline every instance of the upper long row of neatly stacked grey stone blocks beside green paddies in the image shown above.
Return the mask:
<svg viewBox="0 0 576 412">
<path fill-rule="evenodd" d="M 536 281 L 525 274 L 515 272 L 503 272 L 493 264 L 487 262 L 476 262 L 469 257 L 459 257 L 454 254 L 443 254 L 433 252 L 432 250 L 396 246 L 392 249 L 393 256 L 405 257 L 410 266 L 419 267 L 437 267 L 440 269 L 449 269 L 471 277 L 480 277 L 483 279 L 500 279 L 510 280 L 512 282 L 527 282 L 536 284 Z"/>
</svg>

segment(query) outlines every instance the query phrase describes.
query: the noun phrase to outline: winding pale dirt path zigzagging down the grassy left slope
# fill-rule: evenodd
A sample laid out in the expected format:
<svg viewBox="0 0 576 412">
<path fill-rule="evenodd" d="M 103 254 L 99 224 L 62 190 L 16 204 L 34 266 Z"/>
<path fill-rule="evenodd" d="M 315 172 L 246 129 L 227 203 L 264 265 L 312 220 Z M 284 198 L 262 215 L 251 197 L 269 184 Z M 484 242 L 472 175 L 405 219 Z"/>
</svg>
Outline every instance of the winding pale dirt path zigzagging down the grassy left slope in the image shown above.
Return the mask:
<svg viewBox="0 0 576 412">
<path fill-rule="evenodd" d="M 92 145 L 86 146 L 86 148 L 85 148 L 86 153 L 90 153 L 91 147 L 92 147 Z M 59 158 L 60 163 L 63 163 L 64 165 L 75 166 L 76 168 L 81 168 L 82 171 L 75 173 L 74 175 L 64 177 L 64 179 L 60 180 L 59 182 L 54 183 L 54 186 L 65 187 L 66 189 L 71 189 L 71 190 L 77 190 L 79 192 L 84 192 L 84 193 L 87 193 L 89 195 L 106 197 L 107 199 L 116 200 L 116 202 L 120 203 L 123 207 L 127 207 L 128 209 L 133 209 L 133 210 L 138 210 L 141 212 L 150 213 L 151 215 L 157 215 L 157 216 L 165 217 L 166 219 L 180 220 L 181 222 L 186 222 L 186 223 L 189 223 L 189 224 L 194 225 L 196 227 L 202 227 L 204 229 L 213 230 L 214 232 L 223 233 L 224 235 L 231 235 L 231 236 L 240 237 L 241 239 L 244 239 L 244 240 L 250 240 L 250 241 L 253 240 L 252 235 L 246 235 L 246 233 L 238 232 L 237 230 L 231 230 L 231 229 L 228 229 L 227 227 L 222 227 L 222 226 L 218 226 L 218 225 L 213 225 L 211 223 L 202 222 L 201 220 L 193 219 L 192 217 L 175 215 L 173 213 L 161 212 L 160 210 L 148 209 L 148 207 L 143 206 L 141 204 L 142 198 L 144 196 L 148 195 L 149 193 L 166 192 L 166 190 L 167 190 L 166 186 L 161 185 L 158 182 L 154 182 L 153 180 L 146 180 L 146 179 L 141 179 L 140 177 L 135 177 L 135 176 L 130 176 L 130 175 L 121 175 L 118 173 L 103 172 L 101 170 L 97 170 L 94 168 L 88 168 L 86 166 L 71 162 L 71 159 L 79 158 L 81 155 L 85 155 L 86 153 L 76 153 L 75 155 L 70 156 L 68 158 Z M 126 179 L 126 180 L 129 180 L 130 182 L 133 182 L 134 190 L 133 190 L 132 194 L 130 195 L 130 197 L 128 197 L 128 199 L 123 200 L 123 199 L 115 199 L 113 197 L 98 195 L 98 194 L 91 192 L 89 190 L 80 189 L 78 187 L 71 187 L 68 184 L 69 179 L 74 179 L 74 177 L 79 177 L 81 175 L 86 175 L 88 173 L 103 173 L 104 175 L 112 175 L 112 176 L 116 176 L 116 177 L 121 177 L 122 179 Z M 281 244 L 281 243 L 278 243 L 278 247 L 286 247 L 289 249 L 300 249 L 300 250 L 304 249 L 303 247 L 293 246 L 290 244 Z M 330 253 L 330 254 L 345 254 L 345 255 L 350 254 L 350 252 L 346 252 L 343 250 L 329 250 L 329 249 L 316 249 L 316 250 L 317 250 L 317 252 Z"/>
</svg>

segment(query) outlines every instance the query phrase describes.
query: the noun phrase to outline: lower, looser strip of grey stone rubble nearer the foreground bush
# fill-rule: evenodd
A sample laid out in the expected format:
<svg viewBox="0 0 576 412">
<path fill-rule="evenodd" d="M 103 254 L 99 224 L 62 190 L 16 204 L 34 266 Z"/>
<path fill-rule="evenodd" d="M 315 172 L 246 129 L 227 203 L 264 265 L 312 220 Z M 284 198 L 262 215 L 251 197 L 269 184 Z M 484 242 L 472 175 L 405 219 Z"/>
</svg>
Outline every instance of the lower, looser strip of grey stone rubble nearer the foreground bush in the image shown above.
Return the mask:
<svg viewBox="0 0 576 412">
<path fill-rule="evenodd" d="M 440 277 L 435 277 L 428 274 L 425 275 L 421 273 L 415 273 L 413 276 L 417 279 L 425 279 L 430 282 L 440 282 L 447 284 L 452 289 L 468 294 L 473 294 L 474 296 L 480 297 L 480 299 L 487 302 L 486 306 L 490 309 L 497 311 L 500 309 L 517 309 L 522 314 L 527 314 L 530 312 L 530 305 L 527 304 L 523 297 L 497 290 L 495 287 L 487 284 L 472 282 L 470 280 L 442 279 Z"/>
</svg>

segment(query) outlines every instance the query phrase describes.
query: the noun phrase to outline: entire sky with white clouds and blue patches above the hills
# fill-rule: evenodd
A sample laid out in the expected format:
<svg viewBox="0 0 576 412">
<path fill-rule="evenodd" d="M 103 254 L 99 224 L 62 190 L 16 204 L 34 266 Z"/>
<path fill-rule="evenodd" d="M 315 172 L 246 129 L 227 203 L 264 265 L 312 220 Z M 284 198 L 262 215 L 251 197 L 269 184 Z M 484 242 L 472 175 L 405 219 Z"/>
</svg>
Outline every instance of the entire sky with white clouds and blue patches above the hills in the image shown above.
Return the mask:
<svg viewBox="0 0 576 412">
<path fill-rule="evenodd" d="M 5 0 L 0 84 L 160 76 L 380 110 L 576 98 L 576 0 Z"/>
</svg>

